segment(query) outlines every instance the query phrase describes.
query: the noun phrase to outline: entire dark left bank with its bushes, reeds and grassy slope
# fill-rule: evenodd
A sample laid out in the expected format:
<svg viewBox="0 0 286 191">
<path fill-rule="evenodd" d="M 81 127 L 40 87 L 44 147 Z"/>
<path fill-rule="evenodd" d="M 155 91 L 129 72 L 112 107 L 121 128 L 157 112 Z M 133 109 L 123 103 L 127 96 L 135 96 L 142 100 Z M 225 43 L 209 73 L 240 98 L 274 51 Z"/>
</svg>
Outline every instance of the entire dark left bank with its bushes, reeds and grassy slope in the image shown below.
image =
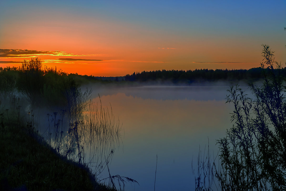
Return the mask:
<svg viewBox="0 0 286 191">
<path fill-rule="evenodd" d="M 0 68 L 1 188 L 124 190 L 126 182 L 136 182 L 101 178 L 120 144 L 121 126 L 112 109 L 92 102 L 91 90 L 80 87 L 37 58 Z"/>
</svg>

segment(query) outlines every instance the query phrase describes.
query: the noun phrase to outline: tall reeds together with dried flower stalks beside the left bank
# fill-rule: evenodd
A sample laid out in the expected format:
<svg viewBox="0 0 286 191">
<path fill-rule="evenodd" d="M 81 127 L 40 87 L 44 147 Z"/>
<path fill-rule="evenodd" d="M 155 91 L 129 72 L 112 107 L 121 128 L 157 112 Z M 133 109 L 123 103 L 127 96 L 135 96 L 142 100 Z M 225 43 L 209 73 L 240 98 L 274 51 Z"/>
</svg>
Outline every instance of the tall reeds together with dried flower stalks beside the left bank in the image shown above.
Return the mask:
<svg viewBox="0 0 286 191">
<path fill-rule="evenodd" d="M 62 110 L 60 114 L 47 114 L 47 142 L 61 155 L 92 167 L 93 173 L 99 175 L 120 145 L 119 119 L 114 117 L 111 107 L 105 109 L 101 103 L 97 105 L 92 101 L 81 117 L 70 119 L 65 113 Z"/>
</svg>

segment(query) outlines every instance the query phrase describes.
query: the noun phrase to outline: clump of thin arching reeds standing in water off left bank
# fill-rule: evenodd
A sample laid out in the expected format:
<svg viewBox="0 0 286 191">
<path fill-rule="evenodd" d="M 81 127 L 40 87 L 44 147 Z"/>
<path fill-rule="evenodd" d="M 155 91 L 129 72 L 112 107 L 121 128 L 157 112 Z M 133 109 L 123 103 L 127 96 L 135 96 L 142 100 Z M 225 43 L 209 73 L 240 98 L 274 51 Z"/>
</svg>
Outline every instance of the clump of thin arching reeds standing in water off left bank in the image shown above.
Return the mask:
<svg viewBox="0 0 286 191">
<path fill-rule="evenodd" d="M 81 120 L 69 125 L 66 154 L 69 158 L 77 157 L 80 164 L 92 166 L 98 175 L 119 146 L 120 131 L 119 119 L 115 119 L 112 109 L 105 110 L 101 103 L 98 106 L 90 101 Z"/>
</svg>

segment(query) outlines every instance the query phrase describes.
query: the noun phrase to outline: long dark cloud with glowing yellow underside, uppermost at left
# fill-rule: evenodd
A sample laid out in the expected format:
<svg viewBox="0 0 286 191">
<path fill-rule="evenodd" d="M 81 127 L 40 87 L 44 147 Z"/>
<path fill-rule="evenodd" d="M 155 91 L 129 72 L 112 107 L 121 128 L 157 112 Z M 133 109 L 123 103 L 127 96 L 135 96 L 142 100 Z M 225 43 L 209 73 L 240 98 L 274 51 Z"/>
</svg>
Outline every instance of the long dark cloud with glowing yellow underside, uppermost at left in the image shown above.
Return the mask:
<svg viewBox="0 0 286 191">
<path fill-rule="evenodd" d="M 21 49 L 0 49 L 0 58 L 28 58 L 40 55 L 50 56 L 96 56 L 96 54 L 78 55 L 66 53 L 62 51 L 37 51 L 37 50 L 21 50 Z"/>
</svg>

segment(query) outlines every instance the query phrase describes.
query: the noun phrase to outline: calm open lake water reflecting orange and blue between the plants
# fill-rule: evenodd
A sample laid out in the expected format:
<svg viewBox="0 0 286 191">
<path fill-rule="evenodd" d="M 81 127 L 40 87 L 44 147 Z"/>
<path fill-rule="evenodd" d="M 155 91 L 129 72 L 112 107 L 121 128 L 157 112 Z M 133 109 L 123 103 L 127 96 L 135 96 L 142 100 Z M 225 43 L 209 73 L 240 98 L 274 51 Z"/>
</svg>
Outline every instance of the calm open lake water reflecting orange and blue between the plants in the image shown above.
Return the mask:
<svg viewBox="0 0 286 191">
<path fill-rule="evenodd" d="M 109 164 L 111 175 L 127 176 L 138 184 L 126 190 L 194 190 L 199 147 L 217 152 L 216 139 L 230 128 L 229 86 L 142 86 L 93 89 L 104 107 L 112 106 L 122 123 L 122 144 Z M 246 89 L 246 88 L 245 88 Z M 93 101 L 99 102 L 94 96 Z M 102 177 L 107 177 L 102 174 Z"/>
</svg>

